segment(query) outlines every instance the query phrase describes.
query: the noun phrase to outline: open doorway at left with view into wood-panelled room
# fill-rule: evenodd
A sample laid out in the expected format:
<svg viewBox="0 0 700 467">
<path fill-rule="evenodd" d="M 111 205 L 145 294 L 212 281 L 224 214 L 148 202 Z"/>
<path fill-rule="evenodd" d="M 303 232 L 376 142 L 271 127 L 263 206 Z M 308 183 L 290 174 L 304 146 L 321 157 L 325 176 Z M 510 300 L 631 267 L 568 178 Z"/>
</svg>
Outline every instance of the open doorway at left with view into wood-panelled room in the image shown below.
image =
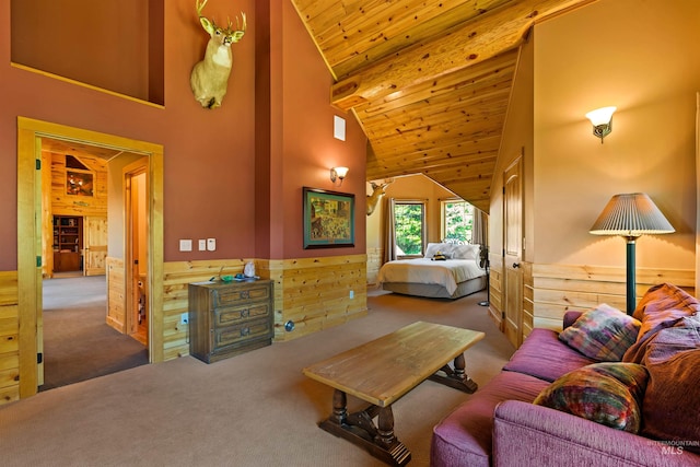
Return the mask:
<svg viewBox="0 0 700 467">
<path fill-rule="evenodd" d="M 129 182 L 121 180 L 121 172 L 125 165 L 133 165 L 133 160 L 138 161 L 141 179 L 137 185 L 142 188 L 129 190 L 127 183 L 120 183 Z M 130 302 L 139 300 L 138 292 L 148 283 L 147 176 L 148 157 L 141 154 L 42 138 L 42 211 L 51 223 L 43 225 L 40 392 L 149 362 L 145 306 L 139 326 L 131 326 L 128 319 Z M 133 199 L 128 196 L 130 191 Z M 124 199 L 125 208 L 119 199 Z M 129 222 L 131 215 L 138 217 L 137 221 Z M 133 243 L 130 236 L 140 238 L 136 245 L 142 252 L 141 288 L 120 290 L 124 281 L 107 280 L 109 218 L 112 223 L 115 219 L 126 223 L 126 229 L 117 225 L 112 230 L 113 244 L 122 243 L 120 231 L 126 232 L 127 245 Z M 107 288 L 108 283 L 112 287 Z M 144 300 L 141 302 L 145 305 Z"/>
</svg>

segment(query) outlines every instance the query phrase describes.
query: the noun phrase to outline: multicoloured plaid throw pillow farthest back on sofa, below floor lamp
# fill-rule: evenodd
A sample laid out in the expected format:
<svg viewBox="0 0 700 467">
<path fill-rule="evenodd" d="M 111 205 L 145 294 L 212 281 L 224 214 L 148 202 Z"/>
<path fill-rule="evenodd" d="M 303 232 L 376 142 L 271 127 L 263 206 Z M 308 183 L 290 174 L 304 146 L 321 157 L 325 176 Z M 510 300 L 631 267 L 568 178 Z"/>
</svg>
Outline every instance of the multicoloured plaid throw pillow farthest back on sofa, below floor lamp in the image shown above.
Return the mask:
<svg viewBox="0 0 700 467">
<path fill-rule="evenodd" d="M 585 312 L 559 332 L 559 339 L 600 362 L 619 362 L 637 340 L 641 323 L 605 303 Z"/>
</svg>

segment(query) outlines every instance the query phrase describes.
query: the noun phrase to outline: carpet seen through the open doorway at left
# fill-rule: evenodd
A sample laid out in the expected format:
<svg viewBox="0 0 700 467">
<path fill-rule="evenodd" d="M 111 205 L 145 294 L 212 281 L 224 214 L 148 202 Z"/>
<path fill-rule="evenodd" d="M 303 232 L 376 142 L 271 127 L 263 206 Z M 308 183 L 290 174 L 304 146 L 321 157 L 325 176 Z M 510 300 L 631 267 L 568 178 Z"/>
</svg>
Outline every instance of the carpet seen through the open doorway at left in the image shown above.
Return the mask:
<svg viewBox="0 0 700 467">
<path fill-rule="evenodd" d="M 104 276 L 44 280 L 44 385 L 48 390 L 143 365 L 148 349 L 105 323 Z"/>
</svg>

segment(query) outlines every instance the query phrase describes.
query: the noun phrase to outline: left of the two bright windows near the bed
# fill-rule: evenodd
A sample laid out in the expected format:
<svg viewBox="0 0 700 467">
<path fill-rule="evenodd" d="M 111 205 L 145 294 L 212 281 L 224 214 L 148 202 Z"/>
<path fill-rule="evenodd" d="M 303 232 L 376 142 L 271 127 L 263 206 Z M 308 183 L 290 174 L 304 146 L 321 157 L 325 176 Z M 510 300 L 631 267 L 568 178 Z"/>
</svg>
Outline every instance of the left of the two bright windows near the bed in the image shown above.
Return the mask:
<svg viewBox="0 0 700 467">
<path fill-rule="evenodd" d="M 395 201 L 396 256 L 423 256 L 425 245 L 425 202 Z"/>
</svg>

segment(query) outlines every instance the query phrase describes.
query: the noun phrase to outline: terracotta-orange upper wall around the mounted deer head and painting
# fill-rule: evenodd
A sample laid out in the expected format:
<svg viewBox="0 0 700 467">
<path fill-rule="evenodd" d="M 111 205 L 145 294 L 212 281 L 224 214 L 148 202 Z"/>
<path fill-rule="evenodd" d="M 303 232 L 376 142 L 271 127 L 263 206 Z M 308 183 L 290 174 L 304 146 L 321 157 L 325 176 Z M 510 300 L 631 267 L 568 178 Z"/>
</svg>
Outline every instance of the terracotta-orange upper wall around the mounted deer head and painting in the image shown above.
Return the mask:
<svg viewBox="0 0 700 467">
<path fill-rule="evenodd" d="M 18 116 L 162 144 L 166 261 L 364 252 L 363 235 L 358 236 L 355 248 L 302 248 L 301 187 L 330 188 L 328 167 L 341 161 L 350 167 L 343 191 L 363 195 L 365 139 L 350 116 L 348 141 L 332 139 L 330 75 L 291 3 L 271 0 L 268 8 L 240 0 L 235 11 L 230 2 L 208 3 L 207 14 L 218 19 L 241 10 L 248 15 L 246 36 L 233 48 L 229 92 L 215 110 L 202 109 L 189 89 L 191 67 L 201 59 L 208 38 L 192 3 L 165 2 L 164 106 L 12 67 L 10 2 L 0 3 L 0 172 L 7 174 L 0 186 L 0 270 L 16 269 L 16 177 L 12 174 L 16 173 Z M 266 13 L 260 19 L 258 9 Z M 272 26 L 258 32 L 265 22 Z M 266 61 L 270 75 L 257 75 L 267 71 Z M 266 80 L 269 92 L 257 87 Z M 267 127 L 258 127 L 266 122 L 258 112 L 269 114 Z M 269 152 L 259 138 L 269 139 Z M 266 171 L 268 176 L 262 177 Z M 269 200 L 255 196 L 260 190 L 269 192 Z M 364 205 L 359 201 L 362 212 Z M 267 221 L 259 217 L 260 210 L 269 213 Z M 364 219 L 357 218 L 357 232 L 363 232 Z M 178 252 L 179 238 L 207 237 L 217 237 L 215 252 Z"/>
</svg>

